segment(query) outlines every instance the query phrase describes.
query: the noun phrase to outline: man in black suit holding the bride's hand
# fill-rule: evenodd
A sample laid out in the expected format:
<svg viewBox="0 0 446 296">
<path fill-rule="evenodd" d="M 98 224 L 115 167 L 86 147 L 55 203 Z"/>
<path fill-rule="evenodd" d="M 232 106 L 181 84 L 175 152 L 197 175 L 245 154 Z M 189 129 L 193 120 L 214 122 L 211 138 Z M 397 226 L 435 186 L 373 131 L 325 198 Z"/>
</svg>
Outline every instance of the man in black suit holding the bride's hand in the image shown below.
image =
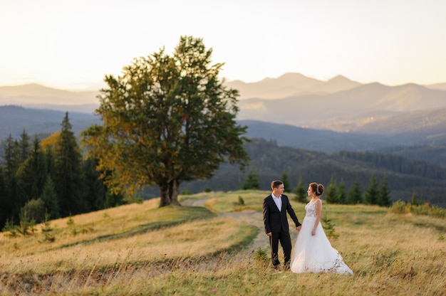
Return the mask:
<svg viewBox="0 0 446 296">
<path fill-rule="evenodd" d="M 273 192 L 264 199 L 264 224 L 266 236 L 269 236 L 271 245 L 271 260 L 275 269 L 279 268 L 279 241 L 284 249 L 284 269 L 289 269 L 291 260 L 291 237 L 289 235 L 289 225 L 286 212 L 296 223 L 296 230 L 301 230 L 301 223 L 296 217 L 288 196 L 284 195 L 285 186 L 282 181 L 272 181 Z"/>
</svg>

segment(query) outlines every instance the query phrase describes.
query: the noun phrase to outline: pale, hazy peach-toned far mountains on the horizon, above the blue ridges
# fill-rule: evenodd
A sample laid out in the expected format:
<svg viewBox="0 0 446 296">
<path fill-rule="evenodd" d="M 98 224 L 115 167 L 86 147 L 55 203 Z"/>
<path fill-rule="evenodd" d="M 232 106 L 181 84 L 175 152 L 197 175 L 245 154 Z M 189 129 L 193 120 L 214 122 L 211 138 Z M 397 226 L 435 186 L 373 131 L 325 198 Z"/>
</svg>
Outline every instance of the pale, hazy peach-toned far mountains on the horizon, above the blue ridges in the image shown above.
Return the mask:
<svg viewBox="0 0 446 296">
<path fill-rule="evenodd" d="M 299 73 L 256 83 L 225 82 L 239 90 L 238 120 L 312 129 L 395 134 L 446 127 L 446 83 L 361 84 L 341 75 L 322 81 Z M 98 91 L 69 91 L 29 84 L 0 87 L 0 105 L 92 113 Z"/>
</svg>

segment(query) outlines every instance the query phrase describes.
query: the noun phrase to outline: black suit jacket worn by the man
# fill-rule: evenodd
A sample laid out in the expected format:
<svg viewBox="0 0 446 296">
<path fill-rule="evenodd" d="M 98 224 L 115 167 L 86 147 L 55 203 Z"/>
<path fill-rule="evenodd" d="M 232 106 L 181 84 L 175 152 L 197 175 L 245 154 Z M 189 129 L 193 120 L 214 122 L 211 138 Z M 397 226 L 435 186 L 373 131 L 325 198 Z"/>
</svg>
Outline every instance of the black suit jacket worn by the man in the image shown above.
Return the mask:
<svg viewBox="0 0 446 296">
<path fill-rule="evenodd" d="M 273 196 L 269 194 L 264 199 L 264 224 L 265 224 L 265 233 L 270 232 L 280 232 L 281 229 L 289 232 L 288 218 L 286 217 L 286 212 L 289 213 L 291 219 L 293 219 L 294 223 L 296 223 L 296 227 L 301 226 L 299 220 L 297 219 L 296 213 L 294 213 L 291 204 L 289 203 L 288 196 L 282 194 L 282 208 L 279 211 L 276 203 L 274 203 Z"/>
</svg>

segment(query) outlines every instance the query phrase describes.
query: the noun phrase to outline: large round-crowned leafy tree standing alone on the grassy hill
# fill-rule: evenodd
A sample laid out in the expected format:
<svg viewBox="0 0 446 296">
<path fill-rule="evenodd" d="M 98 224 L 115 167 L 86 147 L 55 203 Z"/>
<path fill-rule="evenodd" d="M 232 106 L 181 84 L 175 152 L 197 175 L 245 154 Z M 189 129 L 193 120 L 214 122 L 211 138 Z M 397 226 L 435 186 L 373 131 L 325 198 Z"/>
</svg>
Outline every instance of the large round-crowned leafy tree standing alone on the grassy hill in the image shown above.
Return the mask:
<svg viewBox="0 0 446 296">
<path fill-rule="evenodd" d="M 105 76 L 95 110 L 103 125 L 85 129 L 82 142 L 115 193 L 158 186 L 160 206 L 176 205 L 182 181 L 207 179 L 222 162 L 247 164 L 238 92 L 219 80 L 223 64 L 211 55 L 202 38 L 182 36 L 172 56 L 162 48 Z"/>
</svg>

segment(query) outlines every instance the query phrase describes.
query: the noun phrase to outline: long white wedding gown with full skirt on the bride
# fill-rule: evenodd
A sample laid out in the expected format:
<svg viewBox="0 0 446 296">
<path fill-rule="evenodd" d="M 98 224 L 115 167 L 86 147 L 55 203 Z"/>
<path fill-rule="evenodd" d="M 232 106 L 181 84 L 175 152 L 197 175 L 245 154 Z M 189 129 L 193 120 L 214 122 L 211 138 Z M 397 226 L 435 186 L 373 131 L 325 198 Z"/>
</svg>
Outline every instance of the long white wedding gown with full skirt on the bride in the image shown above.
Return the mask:
<svg viewBox="0 0 446 296">
<path fill-rule="evenodd" d="M 293 273 L 338 273 L 353 275 L 353 271 L 344 263 L 341 254 L 331 246 L 321 222 L 316 234 L 311 236 L 316 221 L 316 203 L 320 199 L 306 204 L 306 216 L 291 255 L 291 271 Z"/>
</svg>

